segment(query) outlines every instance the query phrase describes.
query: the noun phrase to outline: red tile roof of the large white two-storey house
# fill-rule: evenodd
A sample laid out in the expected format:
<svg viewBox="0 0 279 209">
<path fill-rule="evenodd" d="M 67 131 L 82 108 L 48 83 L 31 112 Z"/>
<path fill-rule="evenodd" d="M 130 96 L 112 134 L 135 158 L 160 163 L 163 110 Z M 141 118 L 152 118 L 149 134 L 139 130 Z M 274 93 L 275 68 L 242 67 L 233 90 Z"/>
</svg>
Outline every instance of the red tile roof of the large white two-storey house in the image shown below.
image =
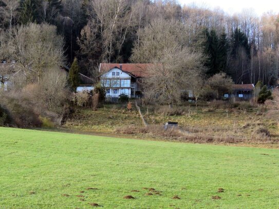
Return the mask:
<svg viewBox="0 0 279 209">
<path fill-rule="evenodd" d="M 153 64 L 121 64 L 121 63 L 101 63 L 99 71 L 106 72 L 114 67 L 120 68 L 122 65 L 122 70 L 128 72 L 135 77 L 144 78 L 147 77 L 147 68 Z"/>
</svg>

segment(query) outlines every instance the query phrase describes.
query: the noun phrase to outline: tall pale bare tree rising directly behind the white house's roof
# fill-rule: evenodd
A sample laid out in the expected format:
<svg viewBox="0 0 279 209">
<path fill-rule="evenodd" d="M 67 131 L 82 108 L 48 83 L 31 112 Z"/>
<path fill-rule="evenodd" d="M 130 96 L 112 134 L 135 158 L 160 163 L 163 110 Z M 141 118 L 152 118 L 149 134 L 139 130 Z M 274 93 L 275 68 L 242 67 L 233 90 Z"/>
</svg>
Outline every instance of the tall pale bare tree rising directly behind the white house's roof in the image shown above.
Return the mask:
<svg viewBox="0 0 279 209">
<path fill-rule="evenodd" d="M 133 12 L 127 0 L 91 0 L 89 15 L 100 26 L 102 60 L 110 62 L 119 59 L 121 48 L 126 40 L 128 28 L 132 25 Z M 115 54 L 115 51 L 117 53 Z"/>
</svg>

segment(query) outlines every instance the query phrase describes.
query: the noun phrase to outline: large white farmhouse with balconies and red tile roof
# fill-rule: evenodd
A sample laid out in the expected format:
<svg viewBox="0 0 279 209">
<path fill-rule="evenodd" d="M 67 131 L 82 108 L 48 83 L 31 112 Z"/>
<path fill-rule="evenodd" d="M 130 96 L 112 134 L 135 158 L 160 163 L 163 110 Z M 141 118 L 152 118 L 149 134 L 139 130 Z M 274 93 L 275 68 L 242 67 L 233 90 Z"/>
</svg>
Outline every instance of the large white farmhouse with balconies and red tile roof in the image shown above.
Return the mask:
<svg viewBox="0 0 279 209">
<path fill-rule="evenodd" d="M 152 64 L 101 63 L 101 84 L 106 89 L 106 98 L 118 98 L 126 94 L 129 98 L 141 97 L 141 79 L 147 76 Z"/>
</svg>

